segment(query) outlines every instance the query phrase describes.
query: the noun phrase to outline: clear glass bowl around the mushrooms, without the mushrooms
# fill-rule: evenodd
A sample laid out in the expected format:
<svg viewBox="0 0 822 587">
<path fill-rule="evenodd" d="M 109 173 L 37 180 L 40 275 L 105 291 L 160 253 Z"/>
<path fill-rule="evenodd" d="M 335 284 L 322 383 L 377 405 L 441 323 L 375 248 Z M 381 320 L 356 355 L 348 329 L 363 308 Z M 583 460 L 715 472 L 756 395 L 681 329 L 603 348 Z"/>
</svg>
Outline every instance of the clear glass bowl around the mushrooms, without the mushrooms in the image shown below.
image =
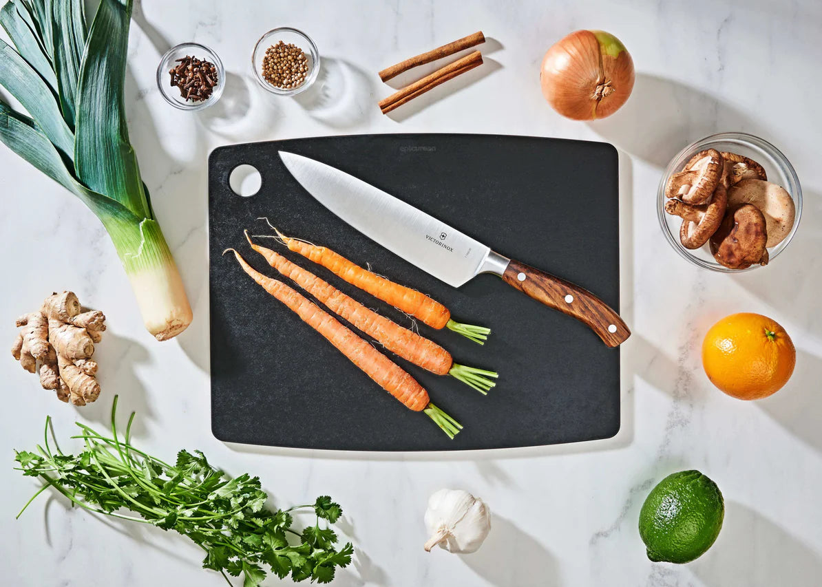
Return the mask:
<svg viewBox="0 0 822 587">
<path fill-rule="evenodd" d="M 743 132 L 722 132 L 717 135 L 706 136 L 704 139 L 686 146 L 686 148 L 681 150 L 679 155 L 674 157 L 671 163 L 668 164 L 665 173 L 663 173 L 663 178 L 659 182 L 657 193 L 659 225 L 663 229 L 663 234 L 667 242 L 671 244 L 681 257 L 703 269 L 720 271 L 722 273 L 741 273 L 742 271 L 750 271 L 761 267 L 758 264 L 752 265 L 748 269 L 729 269 L 722 266 L 713 258 L 708 243 L 694 250 L 683 247 L 679 240 L 679 229 L 682 224 L 682 219 L 679 216 L 670 215 L 665 212 L 665 202 L 667 201 L 667 197 L 665 197 L 665 187 L 667 186 L 668 179 L 671 178 L 674 173 L 681 171 L 691 157 L 699 153 L 700 150 L 705 149 L 727 151 L 754 159 L 764 167 L 765 173 L 768 174 L 768 181 L 784 187 L 787 193 L 793 198 L 794 206 L 796 206 L 796 215 L 793 220 L 791 232 L 788 233 L 782 243 L 768 249 L 769 264 L 773 263 L 774 259 L 779 256 L 779 253 L 783 252 L 787 245 L 791 243 L 793 235 L 797 233 L 799 219 L 802 215 L 802 188 L 799 185 L 797 172 L 793 169 L 791 162 L 787 160 L 787 157 L 783 155 L 782 151 L 778 150 L 768 141 L 760 139 L 758 136 L 748 135 Z"/>
</svg>

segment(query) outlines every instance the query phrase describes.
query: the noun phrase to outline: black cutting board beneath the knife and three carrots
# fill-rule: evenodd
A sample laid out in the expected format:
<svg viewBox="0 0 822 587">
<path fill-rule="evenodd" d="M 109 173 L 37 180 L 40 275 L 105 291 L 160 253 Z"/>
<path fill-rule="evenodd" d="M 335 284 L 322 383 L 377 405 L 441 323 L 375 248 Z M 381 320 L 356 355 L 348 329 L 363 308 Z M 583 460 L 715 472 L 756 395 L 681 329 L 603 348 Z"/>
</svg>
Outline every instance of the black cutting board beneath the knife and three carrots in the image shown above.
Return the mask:
<svg viewBox="0 0 822 587">
<path fill-rule="evenodd" d="M 617 150 L 605 143 L 528 136 L 332 136 L 216 149 L 209 159 L 211 424 L 223 441 L 353 451 L 441 451 L 536 446 L 612 437 L 619 429 L 619 349 L 582 323 L 527 298 L 495 275 L 459 289 L 373 243 L 315 201 L 278 150 L 306 155 L 426 210 L 492 249 L 619 304 Z M 239 164 L 262 176 L 254 196 L 229 187 Z M 450 440 L 427 416 L 381 390 L 321 335 L 245 275 L 237 247 L 266 275 L 242 229 L 326 245 L 419 289 L 457 321 L 490 326 L 479 346 L 450 330 L 419 329 L 457 363 L 500 373 L 478 394 L 395 360 L 464 425 Z M 259 241 L 404 326 L 394 308 L 274 240 Z M 293 284 L 292 284 L 293 285 Z M 387 352 L 387 351 L 386 351 Z"/>
</svg>

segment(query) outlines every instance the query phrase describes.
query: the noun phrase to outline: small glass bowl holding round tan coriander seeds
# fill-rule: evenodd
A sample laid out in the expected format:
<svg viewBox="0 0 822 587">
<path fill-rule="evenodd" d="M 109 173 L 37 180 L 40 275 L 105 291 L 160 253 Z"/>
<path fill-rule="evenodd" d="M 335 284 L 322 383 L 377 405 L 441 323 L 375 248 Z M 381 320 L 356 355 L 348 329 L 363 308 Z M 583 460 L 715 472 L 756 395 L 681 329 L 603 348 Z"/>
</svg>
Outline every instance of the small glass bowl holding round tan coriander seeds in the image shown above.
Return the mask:
<svg viewBox="0 0 822 587">
<path fill-rule="evenodd" d="M 256 42 L 252 71 L 264 90 L 281 96 L 310 88 L 320 72 L 320 52 L 302 30 L 280 26 Z"/>
</svg>

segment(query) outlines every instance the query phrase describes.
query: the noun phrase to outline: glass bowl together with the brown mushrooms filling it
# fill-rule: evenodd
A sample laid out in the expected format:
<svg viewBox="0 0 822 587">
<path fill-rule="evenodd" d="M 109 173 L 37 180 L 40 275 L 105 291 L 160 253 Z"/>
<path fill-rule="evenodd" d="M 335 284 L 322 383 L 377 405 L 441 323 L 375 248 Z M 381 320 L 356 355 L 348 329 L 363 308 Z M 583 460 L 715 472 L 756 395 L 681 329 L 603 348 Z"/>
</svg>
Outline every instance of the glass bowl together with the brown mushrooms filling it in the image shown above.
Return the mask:
<svg viewBox="0 0 822 587">
<path fill-rule="evenodd" d="M 758 136 L 723 132 L 671 160 L 657 215 L 667 242 L 696 266 L 723 273 L 773 262 L 797 232 L 802 189 L 782 151 Z"/>
</svg>

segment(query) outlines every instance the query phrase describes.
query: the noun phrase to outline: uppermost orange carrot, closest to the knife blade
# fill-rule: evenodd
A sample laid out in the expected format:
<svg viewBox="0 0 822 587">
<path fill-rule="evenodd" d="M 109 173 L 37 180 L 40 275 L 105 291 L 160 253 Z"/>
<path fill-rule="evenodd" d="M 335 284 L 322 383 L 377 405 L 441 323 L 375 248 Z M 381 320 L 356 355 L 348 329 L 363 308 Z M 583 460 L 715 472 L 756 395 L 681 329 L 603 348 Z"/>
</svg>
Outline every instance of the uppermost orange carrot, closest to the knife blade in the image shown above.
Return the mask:
<svg viewBox="0 0 822 587">
<path fill-rule="evenodd" d="M 381 275 L 365 270 L 330 248 L 317 247 L 298 238 L 287 237 L 277 229 L 275 231 L 279 240 L 291 251 L 326 267 L 335 275 L 348 281 L 349 284 L 363 289 L 383 302 L 390 303 L 398 310 L 418 318 L 436 330 L 447 327 L 479 344 L 483 344 L 491 332 L 491 329 L 484 326 L 472 326 L 451 320 L 448 308 L 426 294 L 404 285 L 395 284 Z"/>
</svg>

